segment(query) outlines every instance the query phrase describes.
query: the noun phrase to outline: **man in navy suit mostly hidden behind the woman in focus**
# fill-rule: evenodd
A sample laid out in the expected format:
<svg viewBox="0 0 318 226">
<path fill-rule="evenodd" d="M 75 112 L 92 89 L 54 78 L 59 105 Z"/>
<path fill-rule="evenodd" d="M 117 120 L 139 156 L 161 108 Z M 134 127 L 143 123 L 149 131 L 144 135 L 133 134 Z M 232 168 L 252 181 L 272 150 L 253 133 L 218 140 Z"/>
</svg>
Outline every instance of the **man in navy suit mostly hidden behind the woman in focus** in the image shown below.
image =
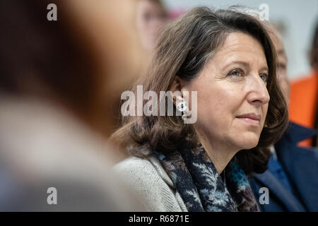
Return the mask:
<svg viewBox="0 0 318 226">
<path fill-rule="evenodd" d="M 278 82 L 289 100 L 287 57 L 277 32 L 270 33 L 278 55 Z M 318 148 L 298 146 L 315 135 L 317 131 L 290 122 L 280 141 L 271 147 L 269 168 L 249 179 L 261 211 L 318 211 Z M 268 194 L 261 189 L 264 187 Z"/>
</svg>

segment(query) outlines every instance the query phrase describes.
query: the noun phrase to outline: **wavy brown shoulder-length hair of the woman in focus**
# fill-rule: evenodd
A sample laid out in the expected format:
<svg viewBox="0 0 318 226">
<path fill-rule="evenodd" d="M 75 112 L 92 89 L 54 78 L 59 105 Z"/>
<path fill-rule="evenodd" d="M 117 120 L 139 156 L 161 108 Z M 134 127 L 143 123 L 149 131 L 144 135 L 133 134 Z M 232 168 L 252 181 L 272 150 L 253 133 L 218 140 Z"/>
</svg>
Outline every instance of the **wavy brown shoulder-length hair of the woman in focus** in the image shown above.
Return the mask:
<svg viewBox="0 0 318 226">
<path fill-rule="evenodd" d="M 137 84 L 144 91 L 159 94 L 167 91 L 179 76 L 191 81 L 213 57 L 231 32 L 244 32 L 257 39 L 264 48 L 269 67 L 267 89 L 271 100 L 258 145 L 240 150 L 235 156 L 247 174 L 264 172 L 269 160 L 269 146 L 276 143 L 288 122 L 286 103 L 276 81 L 276 50 L 264 26 L 254 18 L 233 9 L 213 11 L 197 7 L 171 23 L 161 35 L 152 64 Z M 136 87 L 136 86 L 135 86 Z M 159 105 L 159 102 L 158 102 Z M 175 108 L 175 106 L 174 106 Z M 192 124 L 184 124 L 179 116 L 124 117 L 123 126 L 112 135 L 112 141 L 124 146 L 137 157 L 177 150 L 187 141 L 195 148 L 198 137 Z"/>
</svg>

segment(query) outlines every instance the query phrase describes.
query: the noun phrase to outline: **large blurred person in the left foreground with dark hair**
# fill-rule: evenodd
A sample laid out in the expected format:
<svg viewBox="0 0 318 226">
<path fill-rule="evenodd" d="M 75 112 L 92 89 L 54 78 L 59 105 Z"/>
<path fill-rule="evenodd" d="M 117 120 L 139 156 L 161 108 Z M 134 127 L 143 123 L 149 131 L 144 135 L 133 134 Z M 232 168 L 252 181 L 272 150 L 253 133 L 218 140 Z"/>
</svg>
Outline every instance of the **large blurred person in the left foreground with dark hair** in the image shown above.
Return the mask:
<svg viewBox="0 0 318 226">
<path fill-rule="evenodd" d="M 138 71 L 133 11 L 131 1 L 0 2 L 0 210 L 136 210 L 98 135 Z"/>
</svg>

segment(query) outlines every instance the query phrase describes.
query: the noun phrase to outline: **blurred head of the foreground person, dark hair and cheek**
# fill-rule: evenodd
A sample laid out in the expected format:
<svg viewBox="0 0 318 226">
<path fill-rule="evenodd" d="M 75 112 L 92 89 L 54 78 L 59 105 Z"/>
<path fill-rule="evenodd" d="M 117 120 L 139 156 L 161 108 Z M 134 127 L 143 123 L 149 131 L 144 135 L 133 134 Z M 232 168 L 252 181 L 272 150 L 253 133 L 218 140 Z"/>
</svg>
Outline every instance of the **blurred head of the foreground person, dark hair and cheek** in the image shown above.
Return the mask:
<svg viewBox="0 0 318 226">
<path fill-rule="evenodd" d="M 57 21 L 47 20 L 51 3 Z M 53 100 L 111 133 L 114 103 L 142 62 L 133 4 L 1 1 L 0 90 Z"/>
</svg>

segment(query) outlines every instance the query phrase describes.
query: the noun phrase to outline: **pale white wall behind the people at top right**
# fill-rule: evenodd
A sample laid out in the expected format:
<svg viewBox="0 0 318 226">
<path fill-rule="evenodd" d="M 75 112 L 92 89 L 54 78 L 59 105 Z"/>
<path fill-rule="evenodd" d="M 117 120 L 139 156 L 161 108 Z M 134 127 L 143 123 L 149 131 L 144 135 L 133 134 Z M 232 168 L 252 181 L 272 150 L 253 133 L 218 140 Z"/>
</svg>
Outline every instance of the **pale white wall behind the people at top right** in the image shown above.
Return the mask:
<svg viewBox="0 0 318 226">
<path fill-rule="evenodd" d="M 318 0 L 163 0 L 167 8 L 191 8 L 193 6 L 214 6 L 226 8 L 242 5 L 259 8 L 269 5 L 269 20 L 283 21 L 287 32 L 283 37 L 288 54 L 288 75 L 299 78 L 310 71 L 307 57 L 312 42 L 314 25 L 318 20 Z"/>
</svg>

